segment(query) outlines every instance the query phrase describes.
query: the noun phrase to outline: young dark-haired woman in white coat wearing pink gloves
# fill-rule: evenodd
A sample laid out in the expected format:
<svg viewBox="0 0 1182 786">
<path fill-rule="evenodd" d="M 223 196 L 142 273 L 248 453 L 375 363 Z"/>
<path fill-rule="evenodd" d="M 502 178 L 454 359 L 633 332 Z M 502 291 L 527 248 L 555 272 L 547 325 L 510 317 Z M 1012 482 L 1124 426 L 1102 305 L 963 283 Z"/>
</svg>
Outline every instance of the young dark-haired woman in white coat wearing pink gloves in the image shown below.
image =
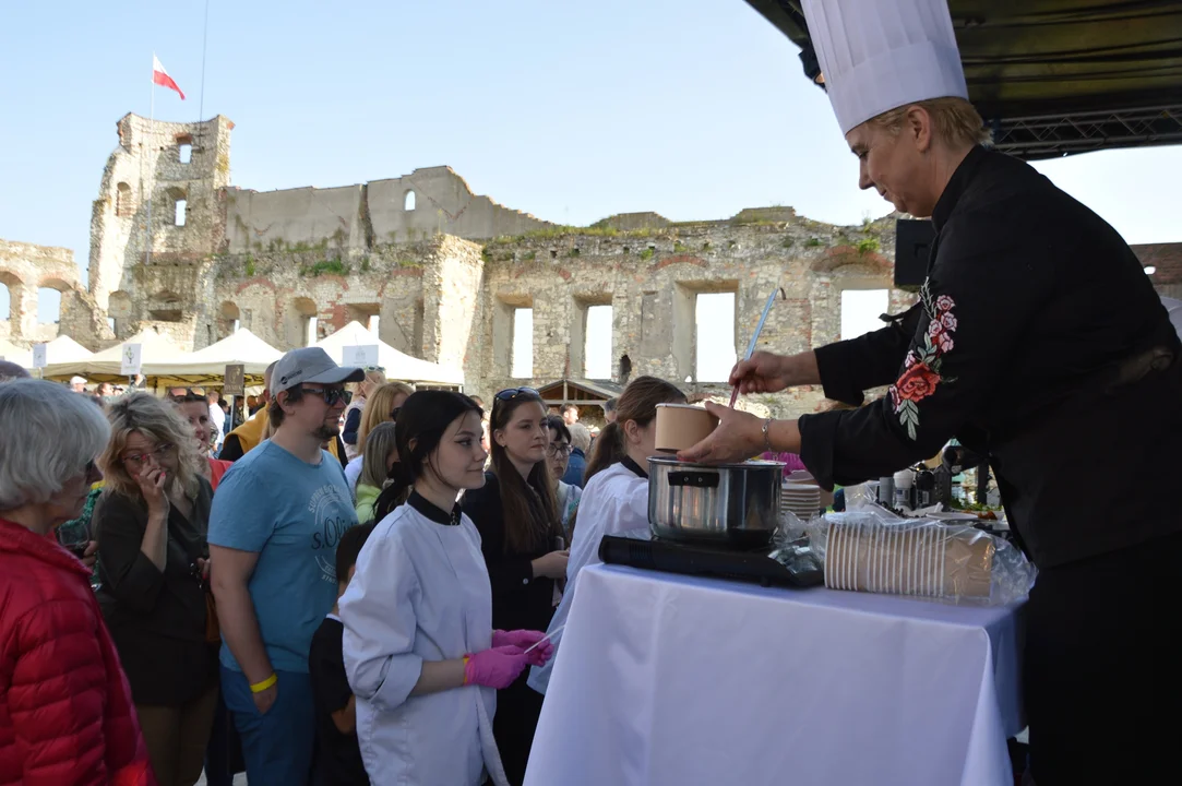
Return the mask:
<svg viewBox="0 0 1182 786">
<path fill-rule="evenodd" d="M 504 786 L 493 739 L 496 690 L 551 655 L 540 631 L 493 630 L 480 535 L 456 505 L 485 482 L 481 410 L 416 392 L 396 422 L 400 475 L 414 492 L 374 530 L 339 602 L 357 697 L 357 739 L 375 784 Z"/>
</svg>

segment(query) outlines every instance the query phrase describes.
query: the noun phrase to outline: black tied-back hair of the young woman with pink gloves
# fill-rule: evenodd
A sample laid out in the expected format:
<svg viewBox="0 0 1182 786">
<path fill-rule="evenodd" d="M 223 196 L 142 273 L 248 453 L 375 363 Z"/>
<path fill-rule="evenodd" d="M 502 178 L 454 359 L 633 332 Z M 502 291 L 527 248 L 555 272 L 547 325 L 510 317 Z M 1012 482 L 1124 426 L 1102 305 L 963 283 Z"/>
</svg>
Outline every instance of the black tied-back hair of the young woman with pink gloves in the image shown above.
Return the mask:
<svg viewBox="0 0 1182 786">
<path fill-rule="evenodd" d="M 443 433 L 467 413 L 483 415 L 470 398 L 450 390 L 420 390 L 403 402 L 395 421 L 398 461 L 390 470 L 390 482 L 374 504 L 375 520 L 381 521 L 410 496 L 415 481 L 426 474 Z"/>
</svg>

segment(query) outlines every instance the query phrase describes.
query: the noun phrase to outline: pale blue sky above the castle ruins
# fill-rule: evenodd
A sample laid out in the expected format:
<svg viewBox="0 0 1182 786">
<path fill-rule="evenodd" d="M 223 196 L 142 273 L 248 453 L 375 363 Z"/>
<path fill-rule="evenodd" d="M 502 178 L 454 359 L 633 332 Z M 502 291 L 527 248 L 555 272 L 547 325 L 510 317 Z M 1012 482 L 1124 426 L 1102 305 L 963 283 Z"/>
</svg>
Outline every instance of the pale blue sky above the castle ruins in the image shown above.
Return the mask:
<svg viewBox="0 0 1182 786">
<path fill-rule="evenodd" d="M 203 4 L 17 5 L 0 11 L 0 238 L 65 246 L 85 266 L 115 123 L 148 112 L 152 51 L 188 98 L 157 89 L 156 116 L 197 119 Z M 259 190 L 449 164 L 563 223 L 889 210 L 857 190 L 795 47 L 742 0 L 210 0 L 215 113 L 236 124 L 233 183 Z M 1182 240 L 1182 148 L 1039 168 L 1130 242 Z"/>
</svg>

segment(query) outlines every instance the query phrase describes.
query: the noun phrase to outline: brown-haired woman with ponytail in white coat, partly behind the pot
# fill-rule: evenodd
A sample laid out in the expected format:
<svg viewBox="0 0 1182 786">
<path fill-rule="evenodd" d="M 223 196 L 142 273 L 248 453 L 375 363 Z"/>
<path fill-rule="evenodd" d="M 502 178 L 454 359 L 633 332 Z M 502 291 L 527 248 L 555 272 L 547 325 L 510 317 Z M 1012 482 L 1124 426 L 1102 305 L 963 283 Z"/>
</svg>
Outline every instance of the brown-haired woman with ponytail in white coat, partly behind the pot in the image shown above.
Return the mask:
<svg viewBox="0 0 1182 786">
<path fill-rule="evenodd" d="M 656 377 L 637 377 L 621 394 L 616 421 L 599 433 L 587 463 L 586 487 L 571 524 L 566 590 L 551 631 L 566 624 L 579 571 L 599 561 L 603 537 L 649 526 L 649 456 L 656 455 L 657 404 L 683 403 L 686 395 L 676 385 Z M 552 665 L 532 669 L 530 687 L 546 693 Z"/>
</svg>

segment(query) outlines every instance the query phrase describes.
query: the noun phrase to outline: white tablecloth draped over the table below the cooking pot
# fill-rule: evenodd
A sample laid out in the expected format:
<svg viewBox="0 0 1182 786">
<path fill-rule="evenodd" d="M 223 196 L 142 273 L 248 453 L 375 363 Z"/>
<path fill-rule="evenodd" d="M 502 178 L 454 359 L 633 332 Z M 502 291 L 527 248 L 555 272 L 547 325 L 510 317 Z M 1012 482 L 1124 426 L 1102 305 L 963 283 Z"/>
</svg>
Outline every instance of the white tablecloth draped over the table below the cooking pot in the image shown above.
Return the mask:
<svg viewBox="0 0 1182 786">
<path fill-rule="evenodd" d="M 1018 615 L 587 567 L 525 784 L 1012 784 Z"/>
</svg>

